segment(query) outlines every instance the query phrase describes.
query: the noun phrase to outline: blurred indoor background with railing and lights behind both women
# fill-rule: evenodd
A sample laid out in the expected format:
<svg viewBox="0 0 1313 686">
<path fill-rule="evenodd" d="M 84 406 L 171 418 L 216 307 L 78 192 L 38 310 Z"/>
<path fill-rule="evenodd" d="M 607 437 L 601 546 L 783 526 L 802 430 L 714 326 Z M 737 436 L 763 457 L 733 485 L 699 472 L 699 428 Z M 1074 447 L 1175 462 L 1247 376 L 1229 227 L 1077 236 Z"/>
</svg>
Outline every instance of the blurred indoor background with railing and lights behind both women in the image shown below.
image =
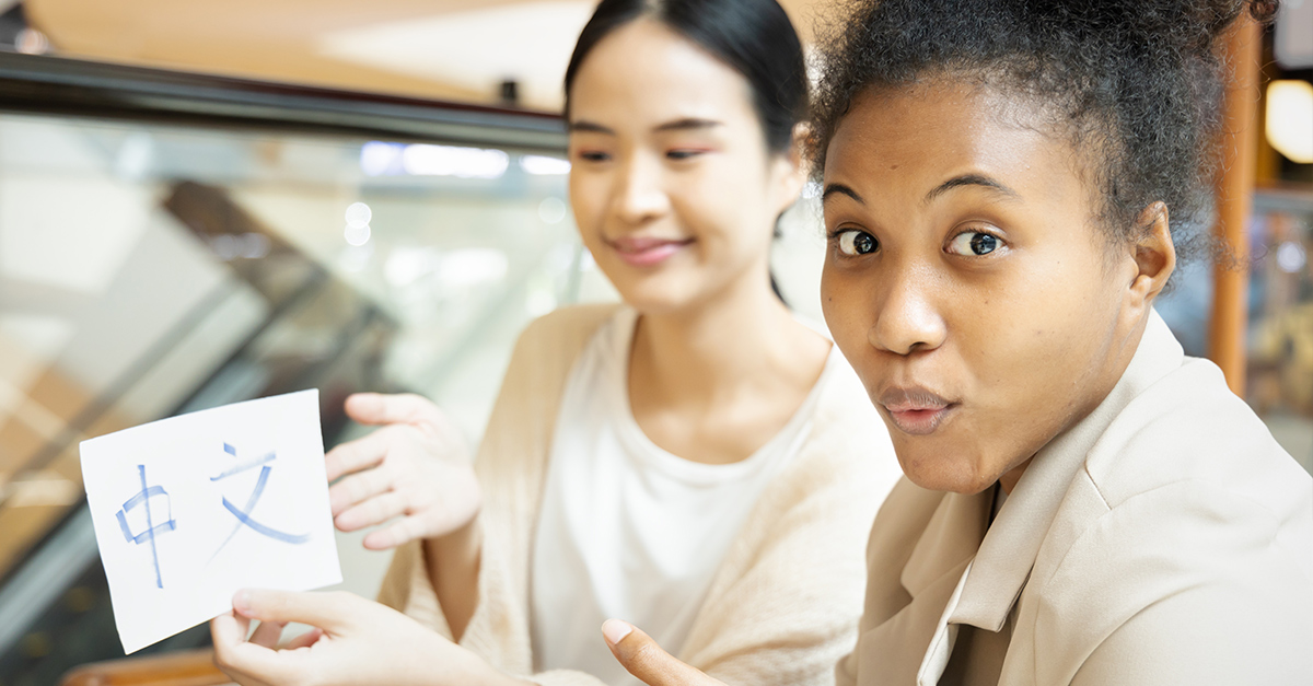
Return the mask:
<svg viewBox="0 0 1313 686">
<path fill-rule="evenodd" d="M 806 41 L 827 16 L 781 4 Z M 592 5 L 0 0 L 0 686 L 122 656 L 80 440 L 319 388 L 327 447 L 362 432 L 341 401 L 365 389 L 423 393 L 477 443 L 520 329 L 614 298 L 557 117 Z M 1243 201 L 1239 319 L 1215 330 L 1207 265 L 1161 310 L 1190 354 L 1239 351 L 1233 388 L 1313 468 L 1313 0 L 1249 50 L 1253 117 L 1220 143 L 1245 160 L 1243 197 L 1218 193 Z M 814 188 L 783 229 L 775 272 L 819 322 Z M 389 556 L 360 539 L 343 586 L 372 597 Z"/>
</svg>

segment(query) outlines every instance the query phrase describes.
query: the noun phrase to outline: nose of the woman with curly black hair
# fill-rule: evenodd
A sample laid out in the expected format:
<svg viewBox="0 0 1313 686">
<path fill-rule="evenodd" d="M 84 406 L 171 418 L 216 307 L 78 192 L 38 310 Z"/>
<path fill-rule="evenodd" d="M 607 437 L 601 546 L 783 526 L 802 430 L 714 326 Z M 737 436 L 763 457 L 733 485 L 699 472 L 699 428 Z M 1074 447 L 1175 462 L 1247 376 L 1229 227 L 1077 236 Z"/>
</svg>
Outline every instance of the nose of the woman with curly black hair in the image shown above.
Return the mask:
<svg viewBox="0 0 1313 686">
<path fill-rule="evenodd" d="M 882 301 L 876 302 L 874 323 L 867 339 L 877 350 L 895 355 L 931 351 L 944 343 L 948 327 L 934 304 L 934 283 L 915 272 L 895 277 Z"/>
</svg>

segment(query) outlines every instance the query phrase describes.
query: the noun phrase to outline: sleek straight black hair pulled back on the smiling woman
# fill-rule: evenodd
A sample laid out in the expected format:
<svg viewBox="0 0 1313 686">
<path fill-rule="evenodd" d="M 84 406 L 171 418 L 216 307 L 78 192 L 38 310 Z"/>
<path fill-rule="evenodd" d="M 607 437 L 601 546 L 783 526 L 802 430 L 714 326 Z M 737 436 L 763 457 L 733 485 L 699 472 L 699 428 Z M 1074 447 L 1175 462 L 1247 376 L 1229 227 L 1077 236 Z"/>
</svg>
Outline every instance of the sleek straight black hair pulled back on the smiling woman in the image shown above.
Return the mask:
<svg viewBox="0 0 1313 686">
<path fill-rule="evenodd" d="M 775 0 L 603 0 L 566 68 L 566 116 L 570 87 L 588 53 L 611 32 L 639 18 L 664 24 L 742 74 L 751 85 L 767 147 L 789 150 L 793 126 L 807 116 L 807 76 L 798 34 Z"/>
</svg>

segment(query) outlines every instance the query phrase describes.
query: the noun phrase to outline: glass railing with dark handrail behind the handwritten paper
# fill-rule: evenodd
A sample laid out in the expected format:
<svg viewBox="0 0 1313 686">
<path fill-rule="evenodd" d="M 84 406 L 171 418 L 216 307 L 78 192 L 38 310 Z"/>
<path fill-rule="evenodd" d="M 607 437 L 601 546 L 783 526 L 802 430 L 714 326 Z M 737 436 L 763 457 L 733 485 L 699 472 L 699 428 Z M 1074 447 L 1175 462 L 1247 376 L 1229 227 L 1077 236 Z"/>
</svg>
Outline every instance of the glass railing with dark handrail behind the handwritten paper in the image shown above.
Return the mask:
<svg viewBox="0 0 1313 686">
<path fill-rule="evenodd" d="M 563 142 L 532 113 L 0 54 L 0 685 L 122 654 L 80 440 L 314 386 L 328 446 L 362 389 L 477 442 L 520 329 L 611 297 Z"/>
</svg>

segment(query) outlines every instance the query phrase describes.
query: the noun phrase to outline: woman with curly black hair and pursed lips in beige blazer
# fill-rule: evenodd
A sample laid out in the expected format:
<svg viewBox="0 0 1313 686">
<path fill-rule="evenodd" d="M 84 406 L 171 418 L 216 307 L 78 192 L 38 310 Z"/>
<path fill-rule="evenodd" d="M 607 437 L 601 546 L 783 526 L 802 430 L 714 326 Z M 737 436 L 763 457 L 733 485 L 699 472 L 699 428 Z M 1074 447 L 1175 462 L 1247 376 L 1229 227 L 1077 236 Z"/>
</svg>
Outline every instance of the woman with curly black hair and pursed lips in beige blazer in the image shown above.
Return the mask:
<svg viewBox="0 0 1313 686">
<path fill-rule="evenodd" d="M 1309 474 L 1153 310 L 1205 244 L 1216 43 L 1271 9 L 868 0 L 831 42 L 822 301 L 907 477 L 839 683 L 1313 683 Z"/>
</svg>

